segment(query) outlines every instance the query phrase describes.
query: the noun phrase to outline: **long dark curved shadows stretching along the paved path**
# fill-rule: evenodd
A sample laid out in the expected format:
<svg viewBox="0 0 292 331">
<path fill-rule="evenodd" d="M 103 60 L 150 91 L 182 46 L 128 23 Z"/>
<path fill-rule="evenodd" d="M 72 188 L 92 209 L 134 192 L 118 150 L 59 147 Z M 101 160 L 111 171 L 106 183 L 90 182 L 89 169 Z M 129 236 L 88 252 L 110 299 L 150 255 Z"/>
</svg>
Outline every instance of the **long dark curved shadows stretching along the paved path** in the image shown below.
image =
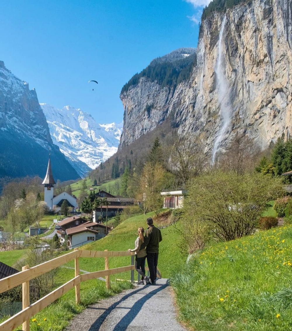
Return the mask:
<svg viewBox="0 0 292 331">
<path fill-rule="evenodd" d="M 153 291 L 149 292 L 148 294 L 145 294 L 141 299 L 136 301 L 134 305 L 130 309 L 126 315 L 119 321 L 119 323 L 115 326 L 114 331 L 125 331 L 128 327 L 128 325 L 131 323 L 131 321 L 136 317 L 138 312 L 141 310 L 142 306 L 145 304 L 145 302 L 150 299 L 152 296 L 154 296 L 156 293 L 162 291 L 167 286 L 169 286 L 169 282 L 167 282 L 164 285 L 148 285 L 154 288 Z M 147 286 L 147 287 L 148 287 Z M 132 295 L 139 293 L 143 289 L 145 289 L 146 286 L 143 286 L 142 288 L 135 290 L 129 294 L 126 294 L 123 296 L 119 301 L 115 302 L 112 306 L 110 306 L 108 309 L 106 309 L 105 312 L 103 312 L 97 320 L 90 326 L 88 331 L 98 331 L 100 327 L 102 326 L 103 322 L 107 318 L 107 316 L 123 301 L 127 300 Z"/>
</svg>

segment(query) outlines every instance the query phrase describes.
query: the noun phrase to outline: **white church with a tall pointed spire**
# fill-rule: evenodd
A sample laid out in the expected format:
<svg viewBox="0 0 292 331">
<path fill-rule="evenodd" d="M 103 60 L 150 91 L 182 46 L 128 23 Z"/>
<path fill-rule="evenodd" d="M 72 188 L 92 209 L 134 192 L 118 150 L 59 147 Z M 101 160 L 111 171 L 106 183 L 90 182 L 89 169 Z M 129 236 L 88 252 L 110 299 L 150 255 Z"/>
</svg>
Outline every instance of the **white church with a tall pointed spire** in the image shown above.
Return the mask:
<svg viewBox="0 0 292 331">
<path fill-rule="evenodd" d="M 70 195 L 67 192 L 62 192 L 58 195 L 54 195 L 54 185 L 56 184 L 51 167 L 51 156 L 49 156 L 49 163 L 47 168 L 47 174 L 43 181 L 44 189 L 45 189 L 45 203 L 49 207 L 49 210 L 60 211 L 62 203 L 64 200 L 67 201 L 67 205 L 69 210 L 72 212 L 76 211 L 78 208 L 77 198 L 74 195 Z"/>
</svg>

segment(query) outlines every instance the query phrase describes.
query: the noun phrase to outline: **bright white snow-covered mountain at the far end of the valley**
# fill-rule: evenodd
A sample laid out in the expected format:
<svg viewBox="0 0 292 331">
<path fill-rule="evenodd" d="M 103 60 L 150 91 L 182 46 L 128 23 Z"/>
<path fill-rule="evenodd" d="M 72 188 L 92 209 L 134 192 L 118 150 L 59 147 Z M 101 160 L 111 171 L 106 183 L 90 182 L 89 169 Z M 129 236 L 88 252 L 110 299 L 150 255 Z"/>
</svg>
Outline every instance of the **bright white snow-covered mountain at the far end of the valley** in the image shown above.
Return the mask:
<svg viewBox="0 0 292 331">
<path fill-rule="evenodd" d="M 82 177 L 117 152 L 122 123 L 98 124 L 90 114 L 72 106 L 40 106 L 53 143 Z"/>
</svg>

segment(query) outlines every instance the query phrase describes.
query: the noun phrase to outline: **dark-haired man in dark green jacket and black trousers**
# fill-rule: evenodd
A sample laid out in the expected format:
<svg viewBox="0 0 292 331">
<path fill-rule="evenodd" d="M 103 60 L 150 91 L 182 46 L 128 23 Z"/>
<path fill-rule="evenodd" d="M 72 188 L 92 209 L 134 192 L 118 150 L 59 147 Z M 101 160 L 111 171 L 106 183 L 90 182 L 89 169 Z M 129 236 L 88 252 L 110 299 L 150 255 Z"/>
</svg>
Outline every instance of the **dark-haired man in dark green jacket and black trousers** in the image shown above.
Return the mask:
<svg viewBox="0 0 292 331">
<path fill-rule="evenodd" d="M 150 272 L 151 284 L 155 285 L 159 243 L 162 241 L 161 231 L 153 225 L 153 219 L 147 218 L 148 229 L 146 230 L 144 243 L 146 245 L 147 263 Z"/>
</svg>

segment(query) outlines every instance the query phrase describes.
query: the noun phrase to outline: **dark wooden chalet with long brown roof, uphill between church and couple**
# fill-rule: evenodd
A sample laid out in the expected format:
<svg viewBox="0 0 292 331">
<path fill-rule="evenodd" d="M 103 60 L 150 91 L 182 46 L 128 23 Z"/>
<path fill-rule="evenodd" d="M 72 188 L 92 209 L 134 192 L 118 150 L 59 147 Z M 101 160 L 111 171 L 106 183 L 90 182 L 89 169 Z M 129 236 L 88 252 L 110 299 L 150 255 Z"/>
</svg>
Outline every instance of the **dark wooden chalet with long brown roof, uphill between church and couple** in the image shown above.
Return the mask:
<svg viewBox="0 0 292 331">
<path fill-rule="evenodd" d="M 93 221 L 98 222 L 98 218 L 102 216 L 104 218 L 105 215 L 108 217 L 113 217 L 117 212 L 121 213 L 124 208 L 128 206 L 133 206 L 135 200 L 132 198 L 122 198 L 122 197 L 109 197 L 107 198 L 108 205 L 103 205 L 102 207 L 96 208 L 93 211 Z"/>
</svg>

